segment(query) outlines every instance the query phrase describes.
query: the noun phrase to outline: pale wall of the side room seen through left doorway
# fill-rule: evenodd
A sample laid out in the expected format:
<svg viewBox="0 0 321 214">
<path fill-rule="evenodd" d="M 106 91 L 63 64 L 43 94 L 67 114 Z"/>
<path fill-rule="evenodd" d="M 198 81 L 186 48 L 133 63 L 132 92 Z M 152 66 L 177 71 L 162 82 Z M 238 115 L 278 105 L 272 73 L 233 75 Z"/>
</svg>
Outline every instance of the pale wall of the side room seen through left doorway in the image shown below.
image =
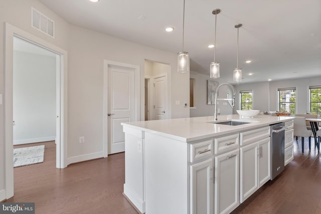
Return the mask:
<svg viewBox="0 0 321 214">
<path fill-rule="evenodd" d="M 56 136 L 56 57 L 14 52 L 14 144 Z"/>
</svg>

